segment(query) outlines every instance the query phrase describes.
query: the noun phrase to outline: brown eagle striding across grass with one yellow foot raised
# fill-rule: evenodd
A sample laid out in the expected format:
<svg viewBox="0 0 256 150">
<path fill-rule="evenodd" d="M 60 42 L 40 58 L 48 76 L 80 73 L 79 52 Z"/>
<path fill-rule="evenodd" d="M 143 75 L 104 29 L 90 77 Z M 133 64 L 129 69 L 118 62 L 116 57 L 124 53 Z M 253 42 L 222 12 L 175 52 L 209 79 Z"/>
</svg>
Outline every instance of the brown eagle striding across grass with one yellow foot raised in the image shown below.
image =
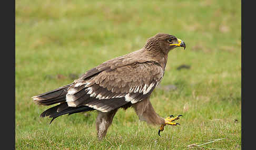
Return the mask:
<svg viewBox="0 0 256 150">
<path fill-rule="evenodd" d="M 150 95 L 164 76 L 168 53 L 185 43 L 169 34 L 156 34 L 147 39 L 143 48 L 105 61 L 86 71 L 80 78 L 63 87 L 32 97 L 39 105 L 53 105 L 40 117 L 52 118 L 64 114 L 97 111 L 97 138 L 105 138 L 117 110 L 132 107 L 141 121 L 160 125 L 180 125 L 173 121 L 178 115 L 165 119 L 157 114 L 150 102 Z"/>
</svg>

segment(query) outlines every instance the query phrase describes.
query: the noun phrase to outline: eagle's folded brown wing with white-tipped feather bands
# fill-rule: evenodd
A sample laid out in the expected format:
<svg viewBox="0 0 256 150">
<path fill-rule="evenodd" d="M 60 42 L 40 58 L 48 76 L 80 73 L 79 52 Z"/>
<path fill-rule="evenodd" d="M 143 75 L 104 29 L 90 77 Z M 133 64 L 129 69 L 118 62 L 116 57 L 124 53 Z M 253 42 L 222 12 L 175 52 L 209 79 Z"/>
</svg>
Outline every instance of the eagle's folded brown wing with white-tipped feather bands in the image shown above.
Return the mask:
<svg viewBox="0 0 256 150">
<path fill-rule="evenodd" d="M 68 88 L 68 106 L 86 105 L 102 112 L 148 97 L 161 81 L 164 71 L 154 62 L 116 58 L 106 61 L 75 80 Z M 85 73 L 86 74 L 86 73 Z"/>
</svg>

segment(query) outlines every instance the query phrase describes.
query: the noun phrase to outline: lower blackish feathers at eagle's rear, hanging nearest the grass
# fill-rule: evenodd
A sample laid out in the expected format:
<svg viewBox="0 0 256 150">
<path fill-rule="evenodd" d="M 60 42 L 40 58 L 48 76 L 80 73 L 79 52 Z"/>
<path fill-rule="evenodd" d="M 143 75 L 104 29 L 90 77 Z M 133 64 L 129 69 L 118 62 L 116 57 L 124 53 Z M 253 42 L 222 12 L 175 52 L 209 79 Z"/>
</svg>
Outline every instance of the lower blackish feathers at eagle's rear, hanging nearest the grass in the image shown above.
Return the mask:
<svg viewBox="0 0 256 150">
<path fill-rule="evenodd" d="M 88 106 L 78 106 L 78 107 L 69 107 L 67 105 L 67 103 L 62 103 L 59 105 L 56 105 L 50 109 L 47 109 L 46 111 L 44 111 L 40 117 L 45 117 L 45 116 L 49 116 L 50 118 L 52 118 L 50 124 L 52 123 L 52 121 L 54 119 L 56 119 L 56 117 L 64 115 L 64 114 L 74 114 L 74 113 L 79 113 L 79 112 L 86 112 L 86 111 L 92 111 L 95 110 L 93 108 L 90 108 Z"/>
</svg>

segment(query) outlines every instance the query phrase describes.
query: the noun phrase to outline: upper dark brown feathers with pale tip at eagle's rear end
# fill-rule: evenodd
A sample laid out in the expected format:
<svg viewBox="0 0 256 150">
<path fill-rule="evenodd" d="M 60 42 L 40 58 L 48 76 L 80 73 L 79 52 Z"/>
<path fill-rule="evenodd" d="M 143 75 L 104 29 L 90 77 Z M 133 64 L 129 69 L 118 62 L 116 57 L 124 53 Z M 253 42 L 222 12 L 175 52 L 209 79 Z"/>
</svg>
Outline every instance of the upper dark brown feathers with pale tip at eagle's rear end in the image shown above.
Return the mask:
<svg viewBox="0 0 256 150">
<path fill-rule="evenodd" d="M 67 89 L 73 84 L 74 83 L 67 84 L 58 89 L 32 97 L 32 99 L 36 104 L 39 104 L 39 105 L 52 105 L 52 104 L 64 102 Z"/>
</svg>

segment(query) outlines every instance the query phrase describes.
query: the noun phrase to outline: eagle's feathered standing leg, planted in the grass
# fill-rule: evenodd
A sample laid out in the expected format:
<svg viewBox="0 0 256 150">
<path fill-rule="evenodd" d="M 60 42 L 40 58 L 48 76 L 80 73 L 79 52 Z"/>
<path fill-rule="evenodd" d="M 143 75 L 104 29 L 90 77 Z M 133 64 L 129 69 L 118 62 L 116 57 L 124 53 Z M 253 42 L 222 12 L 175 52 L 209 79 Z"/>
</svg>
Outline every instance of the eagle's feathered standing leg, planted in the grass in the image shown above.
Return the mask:
<svg viewBox="0 0 256 150">
<path fill-rule="evenodd" d="M 107 128 L 112 123 L 113 117 L 118 109 L 112 110 L 110 112 L 101 112 L 98 111 L 97 119 L 96 119 L 96 129 L 97 136 L 99 140 L 102 140 L 106 136 Z"/>
</svg>

